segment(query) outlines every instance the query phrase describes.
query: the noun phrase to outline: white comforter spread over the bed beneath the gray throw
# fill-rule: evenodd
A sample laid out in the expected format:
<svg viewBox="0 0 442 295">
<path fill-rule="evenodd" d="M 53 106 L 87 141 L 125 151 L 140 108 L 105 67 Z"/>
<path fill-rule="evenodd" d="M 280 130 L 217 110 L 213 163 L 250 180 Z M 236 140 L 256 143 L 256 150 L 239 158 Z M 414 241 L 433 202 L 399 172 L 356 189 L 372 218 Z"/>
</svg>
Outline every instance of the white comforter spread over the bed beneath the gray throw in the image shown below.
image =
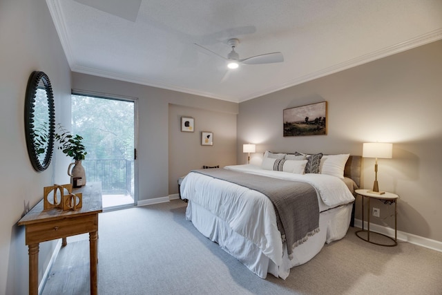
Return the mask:
<svg viewBox="0 0 442 295">
<path fill-rule="evenodd" d="M 224 168 L 308 182 L 318 193 L 320 211 L 354 200 L 343 180 L 334 176 L 267 171 L 253 165 Z M 189 173 L 181 184 L 181 196 L 224 220 L 233 231 L 257 245 L 273 263 L 282 265 L 283 247 L 275 210 L 262 193 L 200 173 Z"/>
</svg>

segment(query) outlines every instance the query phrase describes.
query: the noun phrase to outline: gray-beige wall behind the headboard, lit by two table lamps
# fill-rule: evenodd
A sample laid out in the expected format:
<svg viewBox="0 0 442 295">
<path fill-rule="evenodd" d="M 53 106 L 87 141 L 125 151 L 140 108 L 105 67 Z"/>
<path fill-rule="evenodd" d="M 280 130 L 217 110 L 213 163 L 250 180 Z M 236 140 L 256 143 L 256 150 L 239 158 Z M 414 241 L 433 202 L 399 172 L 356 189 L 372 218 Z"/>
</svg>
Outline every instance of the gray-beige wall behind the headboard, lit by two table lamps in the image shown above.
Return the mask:
<svg viewBox="0 0 442 295">
<path fill-rule="evenodd" d="M 363 142 L 392 142 L 393 158 L 379 159 L 381 190 L 397 193 L 398 230 L 442 241 L 442 41 L 240 104 L 238 159 L 242 144 L 266 149 L 362 155 Z M 328 134 L 282 137 L 282 110 L 328 102 Z M 253 159 L 252 159 L 253 160 Z M 255 159 L 256 160 L 256 159 Z M 372 188 L 374 159 L 363 160 L 364 188 Z M 358 199 L 356 218 L 361 218 Z M 376 202 L 394 226 L 392 207 Z M 385 218 L 385 220 L 384 220 Z"/>
</svg>

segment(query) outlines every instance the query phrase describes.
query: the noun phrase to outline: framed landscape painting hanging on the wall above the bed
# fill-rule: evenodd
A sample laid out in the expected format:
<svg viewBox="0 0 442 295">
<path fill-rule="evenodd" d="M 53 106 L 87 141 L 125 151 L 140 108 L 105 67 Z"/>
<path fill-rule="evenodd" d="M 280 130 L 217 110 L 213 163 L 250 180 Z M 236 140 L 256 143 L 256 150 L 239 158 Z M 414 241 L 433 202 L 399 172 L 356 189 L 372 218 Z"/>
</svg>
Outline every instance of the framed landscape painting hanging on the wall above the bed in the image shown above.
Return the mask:
<svg viewBox="0 0 442 295">
<path fill-rule="evenodd" d="M 327 102 L 286 108 L 282 117 L 284 136 L 327 135 Z"/>
</svg>

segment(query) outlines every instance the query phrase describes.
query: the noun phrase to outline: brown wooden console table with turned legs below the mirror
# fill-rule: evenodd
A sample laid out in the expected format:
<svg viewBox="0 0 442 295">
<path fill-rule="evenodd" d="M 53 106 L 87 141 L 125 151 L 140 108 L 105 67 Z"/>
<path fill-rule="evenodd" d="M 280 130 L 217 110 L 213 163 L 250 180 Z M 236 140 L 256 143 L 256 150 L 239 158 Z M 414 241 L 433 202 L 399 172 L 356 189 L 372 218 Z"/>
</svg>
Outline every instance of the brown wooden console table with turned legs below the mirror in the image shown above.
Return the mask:
<svg viewBox="0 0 442 295">
<path fill-rule="evenodd" d="M 83 205 L 75 211 L 61 209 L 43 209 L 41 200 L 18 225 L 26 227 L 26 245 L 29 247 L 29 294 L 38 294 L 39 243 L 62 238 L 66 245 L 66 237 L 89 233 L 90 253 L 90 294 L 97 294 L 97 238 L 98 213 L 102 212 L 102 184 L 92 182 L 73 193 L 83 193 Z"/>
</svg>

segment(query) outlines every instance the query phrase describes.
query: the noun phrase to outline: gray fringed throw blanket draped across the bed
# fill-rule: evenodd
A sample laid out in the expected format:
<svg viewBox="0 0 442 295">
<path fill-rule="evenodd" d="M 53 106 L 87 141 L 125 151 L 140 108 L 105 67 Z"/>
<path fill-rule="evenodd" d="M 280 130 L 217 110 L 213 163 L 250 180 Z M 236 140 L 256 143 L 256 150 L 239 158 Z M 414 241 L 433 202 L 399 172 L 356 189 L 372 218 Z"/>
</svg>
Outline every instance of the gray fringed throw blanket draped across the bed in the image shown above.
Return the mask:
<svg viewBox="0 0 442 295">
<path fill-rule="evenodd" d="M 290 258 L 294 247 L 319 231 L 318 198 L 316 190 L 310 184 L 228 169 L 202 169 L 192 172 L 239 184 L 267 196 L 273 202 L 278 229 L 282 242 L 287 242 Z"/>
</svg>

